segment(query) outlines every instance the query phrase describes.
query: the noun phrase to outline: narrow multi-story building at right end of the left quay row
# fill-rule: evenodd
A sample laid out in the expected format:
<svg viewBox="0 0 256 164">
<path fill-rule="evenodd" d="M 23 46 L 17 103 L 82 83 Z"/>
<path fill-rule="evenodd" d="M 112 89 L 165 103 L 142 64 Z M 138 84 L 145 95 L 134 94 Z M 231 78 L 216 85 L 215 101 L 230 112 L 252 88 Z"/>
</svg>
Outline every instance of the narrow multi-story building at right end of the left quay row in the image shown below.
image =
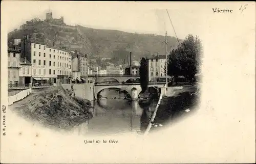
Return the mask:
<svg viewBox="0 0 256 164">
<path fill-rule="evenodd" d="M 88 78 L 88 58 L 87 54 L 82 54 L 81 52 L 75 51 L 72 56 L 72 71 L 81 72 L 81 79 L 86 82 Z"/>
</svg>

